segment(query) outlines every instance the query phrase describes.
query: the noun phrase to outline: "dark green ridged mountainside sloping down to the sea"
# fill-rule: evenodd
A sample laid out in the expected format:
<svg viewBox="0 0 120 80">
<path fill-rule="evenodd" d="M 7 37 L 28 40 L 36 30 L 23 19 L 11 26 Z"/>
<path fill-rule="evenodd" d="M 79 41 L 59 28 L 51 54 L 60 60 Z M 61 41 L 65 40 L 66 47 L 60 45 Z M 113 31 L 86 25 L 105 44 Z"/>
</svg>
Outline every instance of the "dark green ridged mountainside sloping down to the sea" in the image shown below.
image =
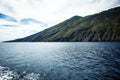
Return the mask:
<svg viewBox="0 0 120 80">
<path fill-rule="evenodd" d="M 34 35 L 12 42 L 120 41 L 120 7 L 86 17 L 74 16 Z"/>
</svg>

